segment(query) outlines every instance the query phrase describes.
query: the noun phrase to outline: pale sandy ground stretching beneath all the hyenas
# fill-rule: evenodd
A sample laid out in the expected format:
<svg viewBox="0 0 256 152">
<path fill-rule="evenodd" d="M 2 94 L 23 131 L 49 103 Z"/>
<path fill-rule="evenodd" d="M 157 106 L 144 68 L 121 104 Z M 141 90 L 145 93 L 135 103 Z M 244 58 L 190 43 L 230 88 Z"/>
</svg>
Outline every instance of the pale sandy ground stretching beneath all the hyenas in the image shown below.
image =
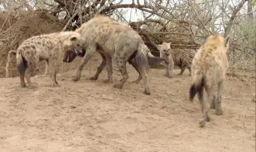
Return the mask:
<svg viewBox="0 0 256 152">
<path fill-rule="evenodd" d="M 94 67 L 95 70 L 96 66 Z M 19 78 L 0 82 L 0 151 L 255 151 L 254 83 L 228 78 L 222 96 L 224 115 L 210 110 L 211 122 L 198 126 L 198 99 L 189 102 L 188 72 L 169 79 L 150 70 L 151 95 L 128 66 L 122 90 L 103 83 L 106 70 L 91 82 L 93 70 L 58 74 L 61 87 L 35 76 L 38 88 L 21 88 Z M 179 70 L 174 73 L 178 74 Z M 120 74 L 114 72 L 114 82 Z"/>
</svg>

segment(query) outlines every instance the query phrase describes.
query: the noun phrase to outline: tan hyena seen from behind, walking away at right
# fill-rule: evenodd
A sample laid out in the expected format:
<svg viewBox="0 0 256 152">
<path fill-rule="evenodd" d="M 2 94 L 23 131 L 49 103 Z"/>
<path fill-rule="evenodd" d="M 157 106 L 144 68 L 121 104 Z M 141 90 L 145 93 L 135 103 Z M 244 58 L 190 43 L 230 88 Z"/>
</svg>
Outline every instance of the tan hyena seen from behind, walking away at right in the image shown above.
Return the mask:
<svg viewBox="0 0 256 152">
<path fill-rule="evenodd" d="M 222 90 L 228 68 L 226 52 L 229 48 L 229 39 L 230 37 L 225 39 L 218 34 L 211 35 L 194 56 L 191 66 L 193 80 L 190 86 L 190 101 L 193 102 L 195 94 L 198 94 L 202 107 L 200 126 L 205 126 L 206 122 L 210 121 L 208 116 L 210 106 L 216 109 L 217 115 L 223 113 Z M 215 100 L 214 86 L 218 86 L 217 100 Z M 206 90 L 207 98 L 203 96 L 203 89 Z"/>
</svg>

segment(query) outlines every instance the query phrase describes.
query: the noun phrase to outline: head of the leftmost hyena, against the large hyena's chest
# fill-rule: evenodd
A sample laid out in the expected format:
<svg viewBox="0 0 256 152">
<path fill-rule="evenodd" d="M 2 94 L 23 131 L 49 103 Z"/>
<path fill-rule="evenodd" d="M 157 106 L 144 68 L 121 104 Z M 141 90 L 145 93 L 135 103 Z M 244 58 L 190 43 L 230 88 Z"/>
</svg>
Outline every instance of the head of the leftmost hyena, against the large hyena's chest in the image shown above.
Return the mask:
<svg viewBox="0 0 256 152">
<path fill-rule="evenodd" d="M 74 31 L 62 32 L 63 62 L 72 62 L 77 55 L 83 54 L 81 34 Z M 66 38 L 65 38 L 66 37 Z"/>
</svg>

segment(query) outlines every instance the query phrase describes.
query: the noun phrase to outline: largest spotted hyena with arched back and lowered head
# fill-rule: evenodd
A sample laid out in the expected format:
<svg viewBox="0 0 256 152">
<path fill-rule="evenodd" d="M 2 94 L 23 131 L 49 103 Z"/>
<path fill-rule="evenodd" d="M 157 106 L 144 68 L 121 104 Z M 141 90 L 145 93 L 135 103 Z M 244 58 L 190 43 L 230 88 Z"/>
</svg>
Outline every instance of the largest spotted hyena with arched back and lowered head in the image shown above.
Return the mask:
<svg viewBox="0 0 256 152">
<path fill-rule="evenodd" d="M 97 73 L 90 79 L 97 79 L 98 74 L 107 65 L 108 79 L 104 82 L 113 82 L 112 73 L 112 58 L 118 66 L 118 70 L 122 74 L 122 80 L 115 84 L 114 87 L 122 89 L 124 83 L 128 79 L 126 70 L 126 62 L 130 62 L 139 74 L 142 75 L 144 81 L 144 93 L 150 94 L 149 79 L 146 73 L 147 58 L 158 58 L 150 54 L 142 38 L 130 26 L 114 21 L 102 15 L 98 15 L 88 22 L 82 24 L 80 28 L 75 30 L 80 33 L 83 38 L 83 48 L 86 54 L 78 66 L 77 73 L 74 77 L 74 82 L 81 78 L 81 71 L 83 66 L 90 60 L 90 58 L 97 51 L 102 55 L 102 63 L 98 66 Z M 134 58 L 134 60 L 132 60 Z M 160 59 L 160 58 L 159 58 Z M 160 59 L 161 60 L 161 59 Z"/>
</svg>

